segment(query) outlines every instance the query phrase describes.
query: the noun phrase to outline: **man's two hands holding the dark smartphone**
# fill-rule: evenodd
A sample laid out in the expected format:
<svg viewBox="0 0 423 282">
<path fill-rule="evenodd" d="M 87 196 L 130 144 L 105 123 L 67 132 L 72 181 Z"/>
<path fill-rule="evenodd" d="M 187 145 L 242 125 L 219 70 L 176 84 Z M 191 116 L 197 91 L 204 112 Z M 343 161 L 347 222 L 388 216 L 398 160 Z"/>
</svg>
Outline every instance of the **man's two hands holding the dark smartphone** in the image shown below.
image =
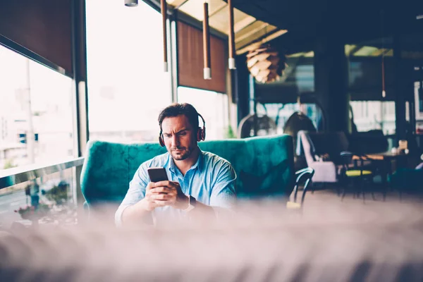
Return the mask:
<svg viewBox="0 0 423 282">
<path fill-rule="evenodd" d="M 150 182 L 147 185 L 145 199 L 152 209 L 156 207 L 171 206 L 175 209 L 186 209 L 188 197 L 180 189 L 180 185 L 174 181 Z"/>
</svg>

